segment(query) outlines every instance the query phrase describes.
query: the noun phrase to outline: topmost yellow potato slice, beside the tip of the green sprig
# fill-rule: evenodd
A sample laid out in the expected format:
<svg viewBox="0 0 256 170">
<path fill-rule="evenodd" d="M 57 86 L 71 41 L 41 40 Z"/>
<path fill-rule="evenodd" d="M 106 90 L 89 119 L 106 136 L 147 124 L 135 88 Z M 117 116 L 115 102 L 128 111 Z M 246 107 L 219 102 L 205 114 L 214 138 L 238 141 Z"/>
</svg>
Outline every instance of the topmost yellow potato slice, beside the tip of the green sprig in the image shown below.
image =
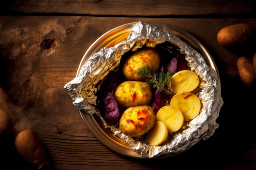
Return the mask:
<svg viewBox="0 0 256 170">
<path fill-rule="evenodd" d="M 182 70 L 175 73 L 171 79 L 171 85 L 173 93 L 191 92 L 198 87 L 199 78 L 198 75 L 189 70 Z"/>
</svg>

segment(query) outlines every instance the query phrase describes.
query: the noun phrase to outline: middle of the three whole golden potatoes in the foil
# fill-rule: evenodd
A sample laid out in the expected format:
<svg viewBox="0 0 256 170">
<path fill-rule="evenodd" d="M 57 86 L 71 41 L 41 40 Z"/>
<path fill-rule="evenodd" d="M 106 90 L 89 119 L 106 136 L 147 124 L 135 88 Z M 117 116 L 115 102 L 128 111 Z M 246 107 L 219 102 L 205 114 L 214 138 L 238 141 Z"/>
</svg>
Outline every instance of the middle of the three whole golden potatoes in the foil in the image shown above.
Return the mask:
<svg viewBox="0 0 256 170">
<path fill-rule="evenodd" d="M 124 108 L 148 105 L 152 98 L 151 86 L 145 82 L 126 81 L 117 86 L 114 97 Z"/>
</svg>

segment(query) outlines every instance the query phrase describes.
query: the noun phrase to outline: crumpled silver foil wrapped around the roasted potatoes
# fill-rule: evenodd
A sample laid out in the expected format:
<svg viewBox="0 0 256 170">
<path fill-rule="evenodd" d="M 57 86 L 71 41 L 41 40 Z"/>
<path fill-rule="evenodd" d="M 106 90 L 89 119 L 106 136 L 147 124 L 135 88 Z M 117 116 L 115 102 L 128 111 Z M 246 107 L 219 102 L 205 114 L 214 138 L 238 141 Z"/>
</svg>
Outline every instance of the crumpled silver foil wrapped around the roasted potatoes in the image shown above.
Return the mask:
<svg viewBox="0 0 256 170">
<path fill-rule="evenodd" d="M 202 109 L 184 130 L 169 135 L 167 142 L 163 145 L 151 146 L 144 139 L 127 137 L 116 126 L 108 126 L 96 108 L 95 94 L 101 88 L 103 78 L 110 71 L 118 68 L 124 53 L 129 50 L 136 51 L 144 45 L 155 47 L 166 41 L 180 47 L 180 52 L 186 55 L 185 59 L 189 62 L 189 67 L 200 77 L 199 98 L 202 102 Z M 94 53 L 82 66 L 79 75 L 67 83 L 64 88 L 70 94 L 76 109 L 91 115 L 97 114 L 105 128 L 110 128 L 114 135 L 123 139 L 132 147 L 132 150 L 146 158 L 175 155 L 190 148 L 201 139 L 208 139 L 218 128 L 216 119 L 223 104 L 218 75 L 213 68 L 207 66 L 204 58 L 175 35 L 141 21 L 131 29 L 126 41 L 111 48 L 102 48 L 98 53 Z"/>
</svg>

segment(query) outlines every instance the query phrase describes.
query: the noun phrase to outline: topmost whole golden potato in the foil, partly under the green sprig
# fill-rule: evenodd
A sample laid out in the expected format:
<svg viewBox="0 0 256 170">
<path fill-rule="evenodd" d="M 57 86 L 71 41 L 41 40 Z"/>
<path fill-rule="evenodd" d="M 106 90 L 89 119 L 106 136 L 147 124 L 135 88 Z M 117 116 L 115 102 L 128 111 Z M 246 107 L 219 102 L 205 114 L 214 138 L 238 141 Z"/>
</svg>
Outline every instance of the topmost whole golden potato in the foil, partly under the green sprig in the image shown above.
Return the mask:
<svg viewBox="0 0 256 170">
<path fill-rule="evenodd" d="M 138 68 L 148 65 L 152 70 L 153 66 L 159 68 L 160 56 L 158 52 L 152 48 L 139 50 L 130 55 L 124 62 L 122 71 L 124 77 L 128 80 L 144 80 L 145 77 L 137 76 L 136 71 Z"/>
</svg>

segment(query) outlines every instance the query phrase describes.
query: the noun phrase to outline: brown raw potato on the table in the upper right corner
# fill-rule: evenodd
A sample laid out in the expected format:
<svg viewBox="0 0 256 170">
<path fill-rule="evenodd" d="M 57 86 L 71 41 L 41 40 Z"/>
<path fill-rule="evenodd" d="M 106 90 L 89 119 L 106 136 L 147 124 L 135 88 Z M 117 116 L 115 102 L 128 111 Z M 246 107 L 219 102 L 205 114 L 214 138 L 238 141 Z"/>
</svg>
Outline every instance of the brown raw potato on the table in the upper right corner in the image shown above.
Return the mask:
<svg viewBox="0 0 256 170">
<path fill-rule="evenodd" d="M 221 45 L 233 46 L 243 44 L 246 36 L 252 32 L 248 24 L 234 24 L 221 29 L 217 34 L 217 40 Z"/>
</svg>

